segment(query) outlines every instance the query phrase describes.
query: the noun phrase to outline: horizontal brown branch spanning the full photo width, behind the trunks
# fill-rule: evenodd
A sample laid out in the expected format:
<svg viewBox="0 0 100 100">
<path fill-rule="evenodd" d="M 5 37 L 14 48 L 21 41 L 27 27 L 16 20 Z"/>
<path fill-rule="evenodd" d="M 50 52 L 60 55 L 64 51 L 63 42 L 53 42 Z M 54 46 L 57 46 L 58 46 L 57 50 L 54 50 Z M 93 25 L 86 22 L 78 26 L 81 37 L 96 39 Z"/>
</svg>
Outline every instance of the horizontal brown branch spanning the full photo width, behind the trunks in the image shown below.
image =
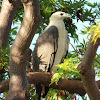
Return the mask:
<svg viewBox="0 0 100 100">
<path fill-rule="evenodd" d="M 41 83 L 44 86 L 49 86 L 52 74 L 46 72 L 30 72 L 27 73 L 27 79 L 29 84 Z M 96 82 L 100 89 L 100 80 Z M 81 96 L 85 95 L 85 89 L 82 82 L 76 80 L 60 79 L 58 85 L 55 83 L 50 85 L 50 88 L 58 90 L 66 90 L 69 93 L 77 93 Z M 9 80 L 0 82 L 0 93 L 9 90 Z"/>
</svg>

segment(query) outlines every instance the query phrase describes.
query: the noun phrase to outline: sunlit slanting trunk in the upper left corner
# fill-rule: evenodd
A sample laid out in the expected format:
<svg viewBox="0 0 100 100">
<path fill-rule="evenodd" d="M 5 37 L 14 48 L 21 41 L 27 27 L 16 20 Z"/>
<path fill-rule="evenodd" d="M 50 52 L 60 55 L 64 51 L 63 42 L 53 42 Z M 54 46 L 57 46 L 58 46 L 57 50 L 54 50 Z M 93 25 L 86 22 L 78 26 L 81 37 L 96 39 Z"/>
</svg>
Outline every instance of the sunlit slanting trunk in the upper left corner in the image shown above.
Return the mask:
<svg viewBox="0 0 100 100">
<path fill-rule="evenodd" d="M 14 15 L 19 7 L 20 2 L 17 0 L 10 3 L 8 0 L 3 0 L 0 13 L 0 44 L 6 48 L 8 45 L 9 32 Z"/>
</svg>

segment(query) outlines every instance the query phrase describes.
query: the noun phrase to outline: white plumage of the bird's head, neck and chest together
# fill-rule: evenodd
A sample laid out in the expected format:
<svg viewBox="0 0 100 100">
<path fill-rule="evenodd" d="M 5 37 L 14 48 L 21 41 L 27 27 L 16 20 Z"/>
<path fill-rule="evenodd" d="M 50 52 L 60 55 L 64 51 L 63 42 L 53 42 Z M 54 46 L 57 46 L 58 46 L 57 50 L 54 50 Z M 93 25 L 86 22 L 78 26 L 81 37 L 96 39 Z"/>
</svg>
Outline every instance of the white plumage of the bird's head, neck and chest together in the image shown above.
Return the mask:
<svg viewBox="0 0 100 100">
<path fill-rule="evenodd" d="M 69 17 L 70 16 L 67 13 L 64 13 L 61 11 L 52 14 L 52 16 L 50 17 L 50 24 L 48 25 L 48 27 L 54 25 L 57 27 L 58 32 L 59 32 L 58 49 L 57 49 L 54 64 L 52 67 L 53 72 L 57 69 L 55 65 L 61 63 L 61 60 L 65 57 L 68 51 L 68 41 L 69 41 L 68 32 L 65 29 L 65 24 L 63 22 L 63 19 L 69 18 Z"/>
</svg>

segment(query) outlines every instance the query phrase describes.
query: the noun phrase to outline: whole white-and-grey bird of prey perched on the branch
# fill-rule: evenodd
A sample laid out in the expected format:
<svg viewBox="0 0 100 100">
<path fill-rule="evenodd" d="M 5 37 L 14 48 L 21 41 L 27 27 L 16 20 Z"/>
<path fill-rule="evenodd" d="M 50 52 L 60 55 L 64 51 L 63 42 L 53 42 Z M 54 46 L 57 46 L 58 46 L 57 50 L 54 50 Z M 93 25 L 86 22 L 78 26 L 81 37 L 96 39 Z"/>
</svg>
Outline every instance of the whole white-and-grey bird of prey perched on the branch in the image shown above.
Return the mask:
<svg viewBox="0 0 100 100">
<path fill-rule="evenodd" d="M 38 37 L 33 51 L 34 72 L 55 72 L 58 64 L 68 54 L 69 37 L 65 28 L 64 19 L 70 18 L 68 13 L 57 11 L 49 18 L 49 24 Z M 36 84 L 37 98 L 41 98 L 42 86 Z M 45 87 L 45 94 L 49 91 Z"/>
</svg>

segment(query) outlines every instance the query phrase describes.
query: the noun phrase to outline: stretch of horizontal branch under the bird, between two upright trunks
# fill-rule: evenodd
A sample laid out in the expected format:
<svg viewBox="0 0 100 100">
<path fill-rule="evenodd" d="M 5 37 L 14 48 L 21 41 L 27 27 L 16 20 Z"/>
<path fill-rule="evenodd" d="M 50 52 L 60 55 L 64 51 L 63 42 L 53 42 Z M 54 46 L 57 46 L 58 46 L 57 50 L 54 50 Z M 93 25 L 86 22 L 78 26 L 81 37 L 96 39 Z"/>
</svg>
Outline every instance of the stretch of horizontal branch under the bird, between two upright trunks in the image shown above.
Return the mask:
<svg viewBox="0 0 100 100">
<path fill-rule="evenodd" d="M 41 83 L 44 86 L 48 86 L 50 88 L 58 89 L 58 90 L 67 90 L 69 93 L 77 93 L 80 95 L 85 94 L 84 87 L 81 82 L 75 80 L 66 80 L 60 79 L 56 85 L 55 83 L 51 83 L 52 74 L 47 72 L 30 72 L 27 74 L 29 83 Z M 81 91 L 80 91 L 81 90 Z"/>
</svg>

